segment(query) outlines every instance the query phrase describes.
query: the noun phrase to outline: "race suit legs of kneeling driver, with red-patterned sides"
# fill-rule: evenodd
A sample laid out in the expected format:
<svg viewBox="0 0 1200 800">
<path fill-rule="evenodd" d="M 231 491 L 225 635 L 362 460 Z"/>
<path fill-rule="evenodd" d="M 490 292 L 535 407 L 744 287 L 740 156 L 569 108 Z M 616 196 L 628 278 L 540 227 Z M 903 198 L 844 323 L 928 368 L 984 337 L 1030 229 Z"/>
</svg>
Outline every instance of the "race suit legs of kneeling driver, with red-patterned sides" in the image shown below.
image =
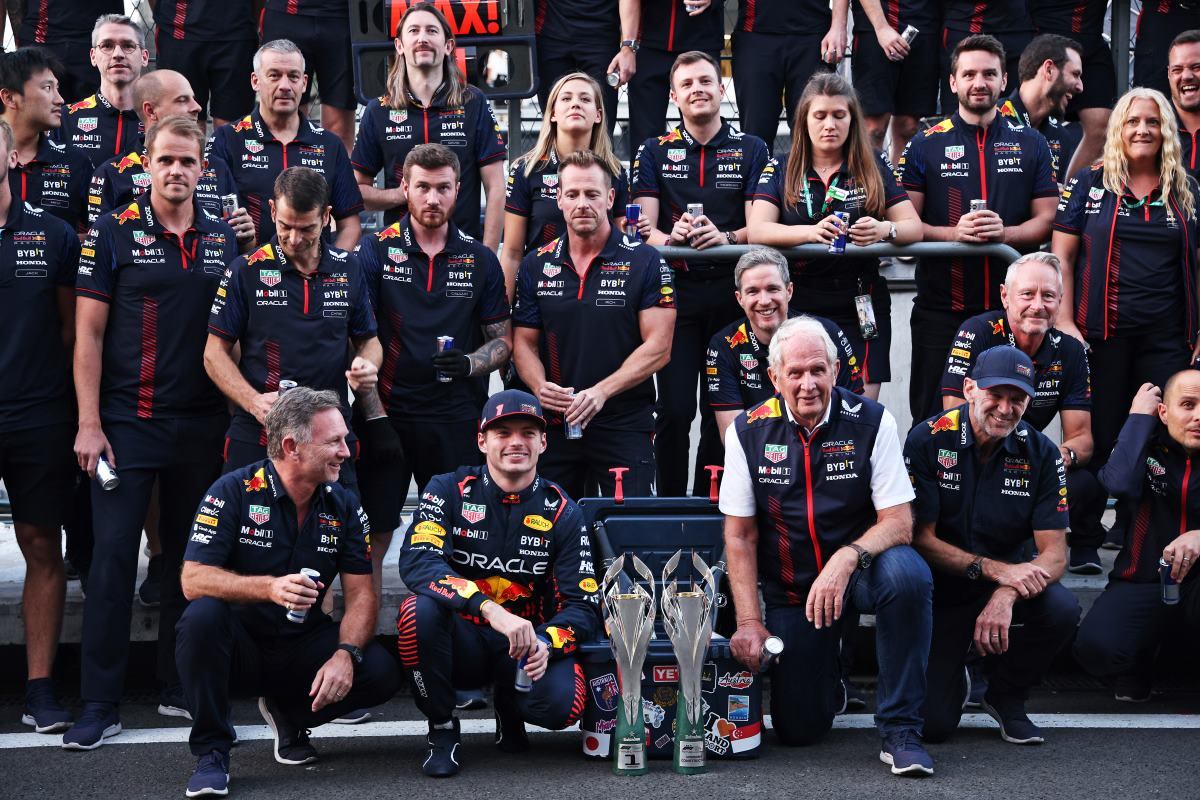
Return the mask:
<svg viewBox="0 0 1200 800">
<path fill-rule="evenodd" d="M 578 721 L 587 699 L 583 668 L 575 656 L 550 662 L 533 688 L 512 688 L 517 662 L 509 640 L 487 625 L 475 625 L 432 597 L 409 595 L 396 620 L 400 661 L 413 681 L 416 708 L 431 722 L 454 716 L 455 688 L 496 686 L 498 709 L 526 722 L 559 730 Z"/>
</svg>

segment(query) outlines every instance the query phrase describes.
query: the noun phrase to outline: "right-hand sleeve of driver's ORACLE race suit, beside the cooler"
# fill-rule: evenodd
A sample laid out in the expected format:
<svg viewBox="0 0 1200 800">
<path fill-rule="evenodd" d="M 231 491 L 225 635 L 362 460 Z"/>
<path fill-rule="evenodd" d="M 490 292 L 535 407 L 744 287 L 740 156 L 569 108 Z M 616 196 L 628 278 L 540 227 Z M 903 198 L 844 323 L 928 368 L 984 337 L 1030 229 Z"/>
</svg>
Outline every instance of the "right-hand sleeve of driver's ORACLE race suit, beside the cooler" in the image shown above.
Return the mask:
<svg viewBox="0 0 1200 800">
<path fill-rule="evenodd" d="M 600 595 L 592 558 L 592 537 L 580 507 L 563 498 L 566 509 L 554 524 L 554 596 L 558 608 L 538 636 L 550 642 L 551 660 L 575 650 L 576 644 L 590 642 L 600 632 Z"/>
</svg>

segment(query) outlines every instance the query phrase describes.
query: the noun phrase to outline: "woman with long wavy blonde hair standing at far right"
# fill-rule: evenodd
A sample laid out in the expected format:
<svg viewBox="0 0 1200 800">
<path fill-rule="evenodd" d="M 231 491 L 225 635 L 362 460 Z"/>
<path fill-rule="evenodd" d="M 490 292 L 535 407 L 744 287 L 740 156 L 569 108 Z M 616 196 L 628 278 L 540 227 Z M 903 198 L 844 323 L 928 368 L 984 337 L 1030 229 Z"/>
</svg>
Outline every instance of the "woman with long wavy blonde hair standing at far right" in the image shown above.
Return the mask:
<svg viewBox="0 0 1200 800">
<path fill-rule="evenodd" d="M 1166 98 L 1133 89 L 1112 109 L 1100 161 L 1058 203 L 1055 325 L 1091 351 L 1092 471 L 1108 461 L 1141 384 L 1162 386 L 1194 357 L 1198 186 L 1181 152 Z"/>
</svg>

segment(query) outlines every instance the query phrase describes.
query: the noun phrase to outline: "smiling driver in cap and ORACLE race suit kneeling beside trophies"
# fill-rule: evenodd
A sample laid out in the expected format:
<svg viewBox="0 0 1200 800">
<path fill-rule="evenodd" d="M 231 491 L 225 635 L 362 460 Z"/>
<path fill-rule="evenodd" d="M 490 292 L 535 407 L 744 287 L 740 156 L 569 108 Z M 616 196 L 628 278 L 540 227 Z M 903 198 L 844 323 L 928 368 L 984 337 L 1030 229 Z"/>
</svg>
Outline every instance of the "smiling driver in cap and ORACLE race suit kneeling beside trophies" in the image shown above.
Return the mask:
<svg viewBox="0 0 1200 800">
<path fill-rule="evenodd" d="M 587 685 L 572 654 L 600 630 L 583 515 L 538 475 L 541 403 L 517 390 L 493 395 L 478 440 L 486 465 L 428 482 L 400 553 L 414 593 L 400 604 L 400 660 L 430 720 L 430 777 L 458 772 L 455 688 L 494 682 L 496 744 L 506 753 L 528 750 L 526 721 L 575 723 Z M 526 688 L 514 688 L 526 675 Z"/>
</svg>

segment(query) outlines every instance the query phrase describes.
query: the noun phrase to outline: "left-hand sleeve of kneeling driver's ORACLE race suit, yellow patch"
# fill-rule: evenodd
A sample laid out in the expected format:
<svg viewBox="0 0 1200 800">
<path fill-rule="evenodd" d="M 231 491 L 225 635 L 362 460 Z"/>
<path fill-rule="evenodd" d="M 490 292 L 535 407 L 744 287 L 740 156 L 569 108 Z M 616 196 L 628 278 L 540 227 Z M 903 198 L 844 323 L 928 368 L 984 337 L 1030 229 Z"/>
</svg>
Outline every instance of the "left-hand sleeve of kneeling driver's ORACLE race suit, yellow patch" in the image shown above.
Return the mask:
<svg viewBox="0 0 1200 800">
<path fill-rule="evenodd" d="M 450 563 L 454 542 L 446 528 L 452 524 L 448 522 L 449 512 L 457 503 L 454 475 L 438 475 L 426 485 L 400 548 L 400 577 L 412 591 L 479 616 L 487 595 Z"/>
</svg>

